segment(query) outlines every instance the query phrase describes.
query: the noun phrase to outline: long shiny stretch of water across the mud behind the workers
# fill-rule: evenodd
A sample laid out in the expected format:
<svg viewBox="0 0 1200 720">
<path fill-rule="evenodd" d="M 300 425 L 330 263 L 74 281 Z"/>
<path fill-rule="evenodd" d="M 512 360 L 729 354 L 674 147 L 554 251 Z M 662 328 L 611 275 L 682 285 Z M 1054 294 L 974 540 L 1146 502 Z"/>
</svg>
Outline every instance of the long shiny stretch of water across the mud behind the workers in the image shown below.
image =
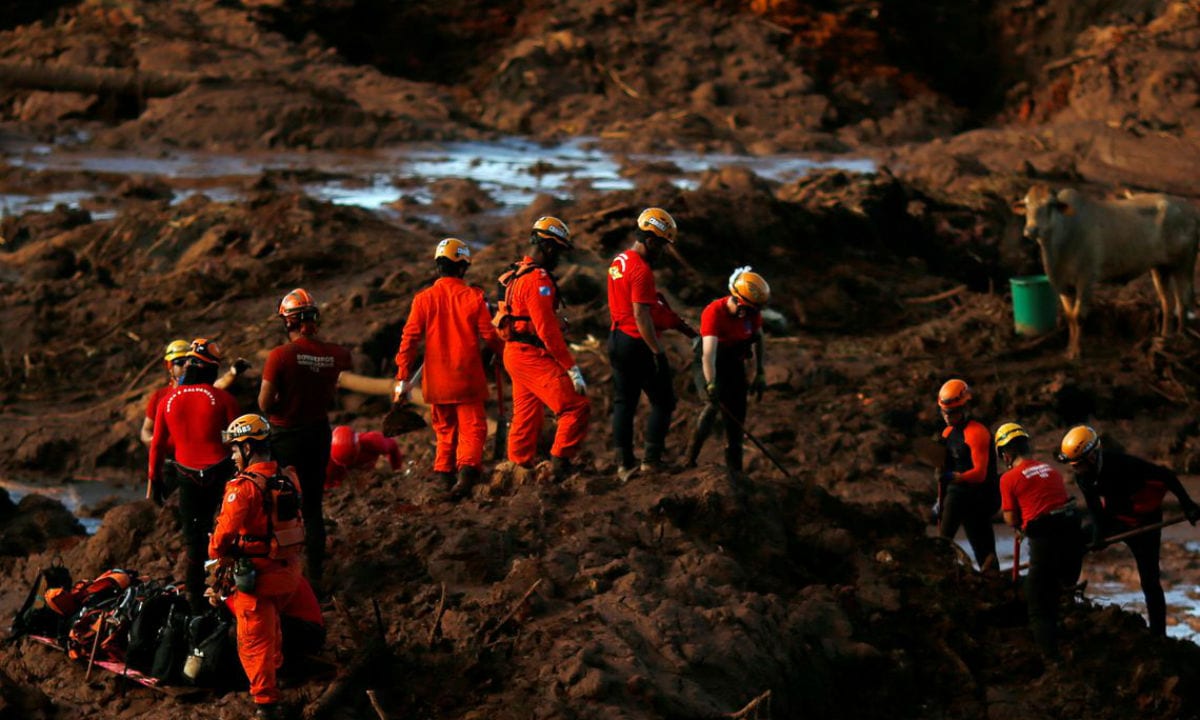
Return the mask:
<svg viewBox="0 0 1200 720">
<path fill-rule="evenodd" d="M 175 202 L 204 192 L 214 199 L 241 197 L 241 181 L 264 172 L 282 175 L 308 173 L 328 179 L 301 181 L 308 194 L 341 205 L 354 205 L 385 215 L 396 214 L 390 205 L 407 197 L 421 206 L 420 217 L 437 222 L 432 209 L 431 185 L 451 178 L 470 179 L 496 200 L 502 211 L 528 205 L 538 194 L 570 199 L 581 187 L 596 191 L 631 190 L 635 182 L 622 176 L 622 162 L 599 150 L 589 138 L 577 138 L 560 145 L 544 146 L 521 139 L 493 143 L 414 144 L 376 152 L 278 152 L 212 155 L 178 152 L 158 157 L 127 154 L 60 152 L 49 145 L 26 146 L 10 151 L 6 160 L 30 170 L 90 172 L 108 175 L 158 175 L 176 182 L 204 181 L 203 190 L 180 191 Z M 658 163 L 676 167 L 671 181 L 692 190 L 700 175 L 709 169 L 744 167 L 760 176 L 791 181 L 820 168 L 840 168 L 856 173 L 875 172 L 875 163 L 864 158 L 818 161 L 802 156 L 739 156 L 672 152 L 626 156 L 636 164 Z M 0 194 L 0 212 L 19 214 L 48 210 L 59 203 L 79 205 L 90 197 L 82 191 L 44 196 Z M 94 214 L 95 216 L 95 214 Z"/>
</svg>

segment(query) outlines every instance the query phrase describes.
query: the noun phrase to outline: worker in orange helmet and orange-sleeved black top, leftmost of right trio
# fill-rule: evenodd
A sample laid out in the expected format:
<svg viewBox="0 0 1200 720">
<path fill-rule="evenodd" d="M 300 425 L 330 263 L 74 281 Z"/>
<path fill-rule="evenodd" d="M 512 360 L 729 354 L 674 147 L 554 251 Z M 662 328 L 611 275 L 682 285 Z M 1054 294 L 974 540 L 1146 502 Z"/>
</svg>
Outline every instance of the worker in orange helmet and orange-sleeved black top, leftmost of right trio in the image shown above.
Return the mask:
<svg viewBox="0 0 1200 720">
<path fill-rule="evenodd" d="M 991 433 L 967 413 L 971 388 L 958 378 L 947 380 L 937 392 L 937 407 L 946 428 L 946 461 L 938 478 L 938 500 L 934 517 L 940 518 L 937 534 L 954 539 L 959 527 L 967 532 L 967 542 L 980 570 L 996 568 L 996 534 L 991 516 L 1000 505 L 996 456 Z"/>
</svg>

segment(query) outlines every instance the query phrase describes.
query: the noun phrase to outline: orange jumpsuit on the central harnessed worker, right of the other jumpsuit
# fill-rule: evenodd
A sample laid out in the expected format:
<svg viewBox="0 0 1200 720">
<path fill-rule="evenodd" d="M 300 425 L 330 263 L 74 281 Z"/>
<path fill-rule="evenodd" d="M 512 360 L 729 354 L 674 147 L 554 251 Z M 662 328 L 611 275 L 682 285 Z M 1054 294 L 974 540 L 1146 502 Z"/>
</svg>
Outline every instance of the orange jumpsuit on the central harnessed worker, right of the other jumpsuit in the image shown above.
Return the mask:
<svg viewBox="0 0 1200 720">
<path fill-rule="evenodd" d="M 526 257 L 522 264 L 533 264 Z M 526 340 L 504 346 L 504 368 L 512 378 L 512 424 L 509 427 L 509 460 L 533 462 L 545 419 L 544 407 L 558 416 L 550 454 L 571 458 L 588 434 L 592 404 L 575 391 L 566 371 L 575 365 L 554 308 L 558 288 L 550 274 L 538 268 L 516 276 L 506 290 L 514 330 Z M 532 342 L 530 342 L 532 341 Z"/>
</svg>

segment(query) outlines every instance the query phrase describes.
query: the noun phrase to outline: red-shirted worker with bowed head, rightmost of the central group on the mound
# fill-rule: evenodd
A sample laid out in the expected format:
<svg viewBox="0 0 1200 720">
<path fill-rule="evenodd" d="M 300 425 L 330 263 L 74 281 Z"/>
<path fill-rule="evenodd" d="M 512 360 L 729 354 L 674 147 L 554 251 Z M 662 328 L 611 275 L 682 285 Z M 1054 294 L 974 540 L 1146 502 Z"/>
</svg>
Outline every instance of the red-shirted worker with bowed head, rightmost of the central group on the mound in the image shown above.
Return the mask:
<svg viewBox="0 0 1200 720">
<path fill-rule="evenodd" d="M 746 392 L 762 400 L 767 386 L 763 372 L 762 308 L 770 300 L 770 286 L 749 266 L 730 276 L 730 294 L 713 300 L 700 316 L 700 390 L 708 404 L 700 412 L 688 445 L 686 464 L 694 467 L 708 439 L 720 407 L 737 422 L 725 422 L 725 467 L 734 480 L 742 475 L 742 428 L 746 419 Z M 754 380 L 746 382 L 746 360 L 755 358 Z"/>
</svg>

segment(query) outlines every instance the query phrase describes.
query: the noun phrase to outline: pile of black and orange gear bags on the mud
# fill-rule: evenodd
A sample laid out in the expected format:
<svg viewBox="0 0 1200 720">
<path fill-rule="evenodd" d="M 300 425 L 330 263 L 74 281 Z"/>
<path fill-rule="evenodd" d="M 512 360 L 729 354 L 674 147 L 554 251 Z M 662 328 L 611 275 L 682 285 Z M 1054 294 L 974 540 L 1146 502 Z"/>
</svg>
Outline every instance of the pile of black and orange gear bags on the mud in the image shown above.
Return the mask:
<svg viewBox="0 0 1200 720">
<path fill-rule="evenodd" d="M 8 642 L 30 637 L 72 660 L 149 686 L 202 688 L 245 683 L 236 662 L 234 619 L 224 606 L 193 614 L 182 588 L 133 570 L 108 570 L 71 582 L 52 565 L 34 581 L 13 619 Z"/>
</svg>

